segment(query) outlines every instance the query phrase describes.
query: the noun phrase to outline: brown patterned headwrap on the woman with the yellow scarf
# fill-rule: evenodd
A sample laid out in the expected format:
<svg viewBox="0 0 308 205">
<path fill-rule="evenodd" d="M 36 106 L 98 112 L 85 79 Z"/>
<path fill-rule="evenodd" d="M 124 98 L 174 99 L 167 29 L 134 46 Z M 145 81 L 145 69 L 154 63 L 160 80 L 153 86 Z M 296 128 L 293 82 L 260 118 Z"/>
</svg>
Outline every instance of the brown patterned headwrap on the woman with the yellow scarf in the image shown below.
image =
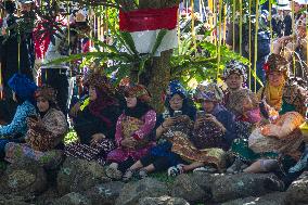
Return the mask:
<svg viewBox="0 0 308 205">
<path fill-rule="evenodd" d="M 288 62 L 281 55 L 272 53 L 264 65 L 267 75 L 272 72 L 282 72 L 284 77 L 288 77 Z"/>
</svg>

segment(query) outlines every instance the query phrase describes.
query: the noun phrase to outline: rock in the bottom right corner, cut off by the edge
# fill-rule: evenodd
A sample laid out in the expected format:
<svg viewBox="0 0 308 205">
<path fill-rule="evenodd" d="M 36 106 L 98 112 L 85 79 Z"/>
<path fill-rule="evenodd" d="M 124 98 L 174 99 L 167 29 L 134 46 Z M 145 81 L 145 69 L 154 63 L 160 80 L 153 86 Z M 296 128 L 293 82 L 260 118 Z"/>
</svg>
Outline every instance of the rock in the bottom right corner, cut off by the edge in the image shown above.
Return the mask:
<svg viewBox="0 0 308 205">
<path fill-rule="evenodd" d="M 291 204 L 308 203 L 308 171 L 294 181 L 286 190 Z"/>
</svg>

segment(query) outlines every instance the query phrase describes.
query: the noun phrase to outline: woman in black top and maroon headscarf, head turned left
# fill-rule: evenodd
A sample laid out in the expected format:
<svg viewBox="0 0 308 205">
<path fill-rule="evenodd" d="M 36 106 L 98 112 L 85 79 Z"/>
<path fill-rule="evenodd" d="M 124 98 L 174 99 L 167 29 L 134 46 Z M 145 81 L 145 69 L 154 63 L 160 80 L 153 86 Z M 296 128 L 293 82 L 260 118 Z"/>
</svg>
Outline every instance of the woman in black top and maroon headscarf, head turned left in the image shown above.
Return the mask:
<svg viewBox="0 0 308 205">
<path fill-rule="evenodd" d="M 79 142 L 68 144 L 65 154 L 104 165 L 106 155 L 114 149 L 120 107 L 107 77 L 91 73 L 85 86 L 89 88 L 89 104 L 78 111 L 74 121 Z"/>
</svg>

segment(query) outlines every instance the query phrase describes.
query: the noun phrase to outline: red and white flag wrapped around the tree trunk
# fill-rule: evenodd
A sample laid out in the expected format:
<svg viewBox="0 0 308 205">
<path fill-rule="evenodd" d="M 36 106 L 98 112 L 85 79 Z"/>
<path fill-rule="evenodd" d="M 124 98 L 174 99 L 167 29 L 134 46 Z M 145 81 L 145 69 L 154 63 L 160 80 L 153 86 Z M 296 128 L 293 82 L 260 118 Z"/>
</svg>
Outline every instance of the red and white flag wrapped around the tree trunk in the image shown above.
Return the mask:
<svg viewBox="0 0 308 205">
<path fill-rule="evenodd" d="M 178 47 L 177 21 L 178 7 L 119 12 L 119 29 L 131 34 L 139 53 L 151 53 L 159 30 L 168 30 L 155 56 L 159 56 L 162 51 Z"/>
</svg>

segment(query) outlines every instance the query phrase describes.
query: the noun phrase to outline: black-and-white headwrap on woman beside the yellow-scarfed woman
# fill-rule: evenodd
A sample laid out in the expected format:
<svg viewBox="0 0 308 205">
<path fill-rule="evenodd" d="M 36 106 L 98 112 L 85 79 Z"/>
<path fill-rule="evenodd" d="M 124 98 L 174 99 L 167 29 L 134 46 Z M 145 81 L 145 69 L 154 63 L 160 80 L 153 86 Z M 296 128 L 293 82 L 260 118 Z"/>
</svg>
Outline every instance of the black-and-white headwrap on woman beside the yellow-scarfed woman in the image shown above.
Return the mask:
<svg viewBox="0 0 308 205">
<path fill-rule="evenodd" d="M 226 80 L 231 74 L 238 74 L 240 76 L 243 76 L 244 81 L 247 80 L 246 66 L 239 61 L 231 60 L 230 62 L 228 62 L 221 77 Z"/>
</svg>

